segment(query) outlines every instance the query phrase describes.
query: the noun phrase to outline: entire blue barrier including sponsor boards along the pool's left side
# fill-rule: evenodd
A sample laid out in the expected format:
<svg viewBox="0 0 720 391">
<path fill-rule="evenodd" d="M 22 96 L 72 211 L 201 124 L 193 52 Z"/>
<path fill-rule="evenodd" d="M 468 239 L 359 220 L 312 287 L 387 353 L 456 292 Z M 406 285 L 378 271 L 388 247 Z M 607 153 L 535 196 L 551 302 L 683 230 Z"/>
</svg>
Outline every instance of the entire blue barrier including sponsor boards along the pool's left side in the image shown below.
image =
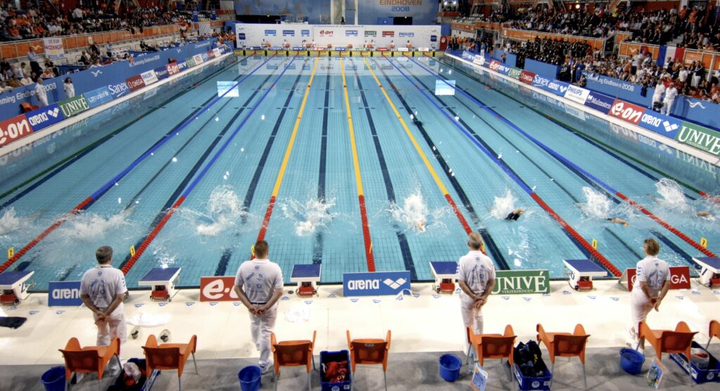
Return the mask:
<svg viewBox="0 0 720 391">
<path fill-rule="evenodd" d="M 148 53 L 137 58 L 133 63 L 123 61 L 87 72 L 75 73 L 72 78 L 77 94 L 72 98 L 68 98 L 62 89 L 63 78 L 66 76 L 48 79 L 44 86 L 48 91 L 48 100 L 53 103 L 0 122 L 0 153 L 3 152 L 1 148 L 4 145 L 110 102 L 112 99 L 186 71 L 227 51 L 225 47 L 212 48 L 213 42 L 215 41 L 207 40 L 165 52 Z M 168 63 L 169 58 L 174 58 L 177 62 Z M 26 86 L 24 89 L 16 89 L 3 95 L 17 94 L 22 96 L 24 102 L 36 104 L 37 101 L 32 94 L 33 89 L 34 85 Z M 0 104 L 2 104 L 1 100 Z"/>
</svg>

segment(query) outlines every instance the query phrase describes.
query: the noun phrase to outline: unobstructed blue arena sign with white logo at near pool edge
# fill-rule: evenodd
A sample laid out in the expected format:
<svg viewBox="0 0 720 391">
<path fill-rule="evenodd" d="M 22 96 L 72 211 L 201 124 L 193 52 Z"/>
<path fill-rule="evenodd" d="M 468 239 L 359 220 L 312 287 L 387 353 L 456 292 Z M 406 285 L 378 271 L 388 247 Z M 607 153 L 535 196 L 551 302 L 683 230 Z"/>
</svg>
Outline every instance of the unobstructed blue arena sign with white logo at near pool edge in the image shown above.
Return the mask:
<svg viewBox="0 0 720 391">
<path fill-rule="evenodd" d="M 344 273 L 343 296 L 397 295 L 410 289 L 410 271 Z"/>
</svg>

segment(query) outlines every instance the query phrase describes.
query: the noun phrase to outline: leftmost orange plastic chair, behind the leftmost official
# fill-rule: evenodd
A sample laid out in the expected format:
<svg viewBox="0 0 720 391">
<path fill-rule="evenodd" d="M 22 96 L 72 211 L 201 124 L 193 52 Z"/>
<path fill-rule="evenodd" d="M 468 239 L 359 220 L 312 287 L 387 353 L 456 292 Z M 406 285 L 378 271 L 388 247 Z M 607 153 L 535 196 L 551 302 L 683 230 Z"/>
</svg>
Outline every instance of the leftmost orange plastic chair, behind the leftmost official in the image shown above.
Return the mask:
<svg viewBox="0 0 720 391">
<path fill-rule="evenodd" d="M 70 338 L 65 349 L 58 349 L 63 353 L 65 359 L 65 381 L 70 382 L 73 373 L 97 372 L 97 387 L 100 388 L 99 380 L 102 380 L 102 373 L 107 363 L 115 356 L 117 364 L 120 364 L 120 339 L 113 338 L 109 346 L 85 346 L 82 348 L 78 338 Z"/>
</svg>

